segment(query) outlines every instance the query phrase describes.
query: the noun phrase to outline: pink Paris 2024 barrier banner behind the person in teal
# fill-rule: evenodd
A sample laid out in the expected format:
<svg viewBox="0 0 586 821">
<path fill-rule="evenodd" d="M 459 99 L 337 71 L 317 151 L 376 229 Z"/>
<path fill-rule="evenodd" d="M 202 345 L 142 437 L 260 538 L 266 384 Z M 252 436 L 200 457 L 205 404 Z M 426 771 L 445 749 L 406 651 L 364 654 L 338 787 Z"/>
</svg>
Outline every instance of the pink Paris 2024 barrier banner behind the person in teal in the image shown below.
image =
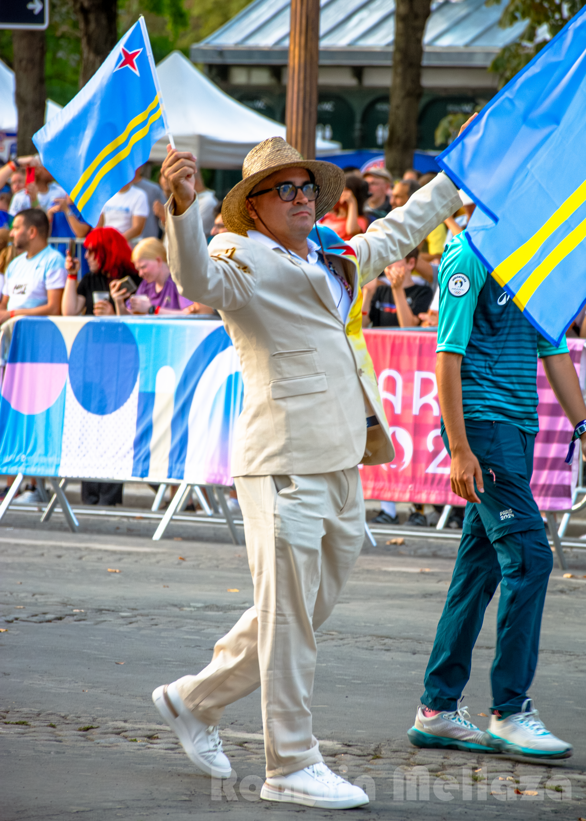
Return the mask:
<svg viewBox="0 0 586 821">
<path fill-rule="evenodd" d="M 463 500 L 451 492 L 450 456 L 440 435 L 436 334 L 370 328 L 364 337 L 396 450 L 388 465 L 361 467 L 364 498 L 461 505 Z M 584 341 L 569 339 L 568 346 L 580 374 Z M 541 362 L 537 383 L 539 433 L 531 488 L 540 510 L 563 510 L 571 505 L 577 474 L 577 456 L 575 466 L 564 461 L 573 429 L 549 387 Z"/>
</svg>

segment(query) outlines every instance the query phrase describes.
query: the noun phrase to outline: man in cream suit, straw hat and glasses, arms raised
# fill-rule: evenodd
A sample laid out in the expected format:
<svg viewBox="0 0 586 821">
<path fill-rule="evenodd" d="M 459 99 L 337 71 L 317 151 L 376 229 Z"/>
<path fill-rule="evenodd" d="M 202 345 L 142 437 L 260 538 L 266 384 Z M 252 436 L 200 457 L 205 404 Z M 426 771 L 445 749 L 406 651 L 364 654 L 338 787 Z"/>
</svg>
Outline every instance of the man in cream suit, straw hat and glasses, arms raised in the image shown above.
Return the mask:
<svg viewBox="0 0 586 821">
<path fill-rule="evenodd" d="M 344 809 L 368 796 L 323 764 L 312 733 L 314 631 L 332 612 L 364 540 L 358 465 L 394 451 L 362 333 L 360 286 L 403 259 L 460 207 L 439 174 L 364 235 L 308 241 L 344 174 L 282 138 L 257 145 L 227 195 L 227 233 L 206 245 L 195 158 L 167 149 L 169 267 L 181 293 L 216 308 L 240 357 L 244 408 L 232 474 L 245 521 L 254 607 L 208 667 L 153 692 L 199 768 L 227 777 L 217 725 L 261 688 L 267 780 L 261 797 Z"/>
</svg>

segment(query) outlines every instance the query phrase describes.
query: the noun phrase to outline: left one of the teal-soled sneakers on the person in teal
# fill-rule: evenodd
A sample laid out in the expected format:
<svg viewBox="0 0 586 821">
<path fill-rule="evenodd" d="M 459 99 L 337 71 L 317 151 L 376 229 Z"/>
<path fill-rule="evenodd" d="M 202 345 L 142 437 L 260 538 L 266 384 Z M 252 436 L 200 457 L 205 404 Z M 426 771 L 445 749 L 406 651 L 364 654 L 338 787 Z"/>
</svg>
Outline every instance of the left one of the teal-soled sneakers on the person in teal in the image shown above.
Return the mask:
<svg viewBox="0 0 586 821">
<path fill-rule="evenodd" d="M 472 752 L 498 753 L 501 742 L 489 732 L 484 732 L 471 721 L 467 707 L 459 707 L 453 712 L 438 713 L 427 718 L 423 709 L 417 709 L 415 723 L 407 736 L 415 747 L 431 747 L 447 750 L 469 750 Z"/>
</svg>

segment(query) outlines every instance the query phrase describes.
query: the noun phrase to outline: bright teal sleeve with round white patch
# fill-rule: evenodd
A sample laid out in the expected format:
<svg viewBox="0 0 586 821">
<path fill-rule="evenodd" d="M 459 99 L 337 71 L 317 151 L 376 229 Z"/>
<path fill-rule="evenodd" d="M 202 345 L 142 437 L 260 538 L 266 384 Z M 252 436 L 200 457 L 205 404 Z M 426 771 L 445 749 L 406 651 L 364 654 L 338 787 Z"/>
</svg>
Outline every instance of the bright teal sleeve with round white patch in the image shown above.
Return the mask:
<svg viewBox="0 0 586 821">
<path fill-rule="evenodd" d="M 440 288 L 436 352 L 465 355 L 472 333 L 478 294 L 487 278 L 484 268 L 461 232 L 446 247 L 437 271 Z"/>
</svg>

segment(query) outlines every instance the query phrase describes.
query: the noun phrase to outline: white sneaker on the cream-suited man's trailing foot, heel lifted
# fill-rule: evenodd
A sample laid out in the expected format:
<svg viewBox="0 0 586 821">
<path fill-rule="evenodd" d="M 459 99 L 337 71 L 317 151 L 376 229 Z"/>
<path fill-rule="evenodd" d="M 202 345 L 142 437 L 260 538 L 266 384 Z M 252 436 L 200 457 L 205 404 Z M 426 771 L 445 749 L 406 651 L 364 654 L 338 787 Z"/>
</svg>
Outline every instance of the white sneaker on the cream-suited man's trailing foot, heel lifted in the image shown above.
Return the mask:
<svg viewBox="0 0 586 821">
<path fill-rule="evenodd" d="M 185 707 L 175 684 L 165 684 L 153 691 L 153 704 L 176 734 L 185 753 L 204 773 L 214 778 L 229 777 L 232 767 L 222 752 L 217 727 L 200 722 Z"/>
</svg>

